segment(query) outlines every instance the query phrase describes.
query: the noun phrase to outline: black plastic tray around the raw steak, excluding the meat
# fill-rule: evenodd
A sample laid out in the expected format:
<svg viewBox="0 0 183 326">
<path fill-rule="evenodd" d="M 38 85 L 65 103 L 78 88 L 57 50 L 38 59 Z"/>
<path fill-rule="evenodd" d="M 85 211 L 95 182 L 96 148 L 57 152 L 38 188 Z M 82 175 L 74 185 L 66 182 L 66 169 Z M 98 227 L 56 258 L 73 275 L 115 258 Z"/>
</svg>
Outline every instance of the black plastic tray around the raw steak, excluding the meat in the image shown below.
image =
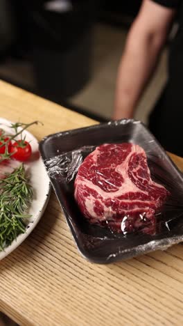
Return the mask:
<svg viewBox="0 0 183 326">
<path fill-rule="evenodd" d="M 122 235 L 89 224 L 78 210 L 73 198 L 73 182 L 76 173 L 68 179 L 69 164 L 64 164 L 64 169 L 67 168 L 67 171 L 62 169 L 63 161 L 60 157 L 67 158 L 71 157 L 71 153 L 80 153 L 80 164 L 95 146 L 123 141 L 137 143 L 146 151 L 152 178 L 171 192 L 162 212 L 161 231 L 157 235 L 143 233 Z M 182 173 L 140 121 L 113 121 L 52 134 L 41 141 L 40 152 L 73 238 L 81 254 L 89 261 L 111 263 L 149 251 L 165 249 L 182 241 Z"/>
</svg>

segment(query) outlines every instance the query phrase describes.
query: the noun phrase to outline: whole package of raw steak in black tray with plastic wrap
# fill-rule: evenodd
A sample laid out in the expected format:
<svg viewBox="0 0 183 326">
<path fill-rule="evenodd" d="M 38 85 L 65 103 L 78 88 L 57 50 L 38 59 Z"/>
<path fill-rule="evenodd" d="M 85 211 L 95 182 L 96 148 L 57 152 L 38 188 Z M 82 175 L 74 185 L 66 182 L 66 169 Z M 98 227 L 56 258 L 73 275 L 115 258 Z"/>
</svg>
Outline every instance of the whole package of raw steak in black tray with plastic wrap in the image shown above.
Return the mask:
<svg viewBox="0 0 183 326">
<path fill-rule="evenodd" d="M 182 174 L 139 121 L 53 134 L 40 151 L 90 261 L 110 263 L 183 239 Z"/>
</svg>

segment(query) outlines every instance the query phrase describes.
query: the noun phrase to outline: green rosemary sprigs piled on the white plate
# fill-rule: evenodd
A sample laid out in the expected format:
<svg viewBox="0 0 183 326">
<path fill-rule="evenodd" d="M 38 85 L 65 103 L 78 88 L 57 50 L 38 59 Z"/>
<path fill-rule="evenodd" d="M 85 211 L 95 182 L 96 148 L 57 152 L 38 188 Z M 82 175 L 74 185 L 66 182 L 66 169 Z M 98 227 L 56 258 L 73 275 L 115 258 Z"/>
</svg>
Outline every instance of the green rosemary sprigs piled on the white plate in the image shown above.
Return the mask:
<svg viewBox="0 0 183 326">
<path fill-rule="evenodd" d="M 0 251 L 10 245 L 21 233 L 25 233 L 24 219 L 33 190 L 21 164 L 12 173 L 0 180 Z"/>
</svg>

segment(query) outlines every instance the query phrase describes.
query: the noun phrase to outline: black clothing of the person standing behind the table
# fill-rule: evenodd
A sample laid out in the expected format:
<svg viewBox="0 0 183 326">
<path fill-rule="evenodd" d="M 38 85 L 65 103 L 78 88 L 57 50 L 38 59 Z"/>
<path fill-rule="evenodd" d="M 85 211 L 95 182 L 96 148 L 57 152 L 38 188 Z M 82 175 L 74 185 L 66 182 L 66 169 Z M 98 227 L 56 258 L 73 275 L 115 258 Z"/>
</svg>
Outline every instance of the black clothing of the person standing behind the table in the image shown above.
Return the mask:
<svg viewBox="0 0 183 326">
<path fill-rule="evenodd" d="M 159 102 L 150 115 L 149 128 L 166 150 L 183 156 L 183 1 L 152 0 L 177 10 L 178 29 L 171 41 L 168 81 Z"/>
</svg>

